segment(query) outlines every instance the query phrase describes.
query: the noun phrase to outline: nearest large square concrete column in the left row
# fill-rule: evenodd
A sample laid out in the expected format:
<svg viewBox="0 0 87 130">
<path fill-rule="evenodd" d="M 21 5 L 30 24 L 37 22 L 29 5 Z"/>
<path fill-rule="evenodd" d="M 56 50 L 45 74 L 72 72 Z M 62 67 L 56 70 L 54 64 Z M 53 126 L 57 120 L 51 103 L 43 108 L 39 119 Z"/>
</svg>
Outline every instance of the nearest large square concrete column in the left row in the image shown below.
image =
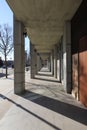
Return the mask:
<svg viewBox="0 0 87 130">
<path fill-rule="evenodd" d="M 24 26 L 14 17 L 14 93 L 20 94 L 25 89 L 25 49 Z"/>
</svg>

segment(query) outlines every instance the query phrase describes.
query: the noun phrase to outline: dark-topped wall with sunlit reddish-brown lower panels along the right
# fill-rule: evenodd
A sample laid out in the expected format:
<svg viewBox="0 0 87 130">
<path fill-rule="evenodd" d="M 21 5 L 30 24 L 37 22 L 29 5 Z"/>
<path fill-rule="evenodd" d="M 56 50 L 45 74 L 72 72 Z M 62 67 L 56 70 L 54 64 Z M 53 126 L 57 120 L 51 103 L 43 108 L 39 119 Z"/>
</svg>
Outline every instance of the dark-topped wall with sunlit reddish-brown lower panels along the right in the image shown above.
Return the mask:
<svg viewBox="0 0 87 130">
<path fill-rule="evenodd" d="M 72 93 L 87 107 L 87 1 L 71 20 Z"/>
</svg>

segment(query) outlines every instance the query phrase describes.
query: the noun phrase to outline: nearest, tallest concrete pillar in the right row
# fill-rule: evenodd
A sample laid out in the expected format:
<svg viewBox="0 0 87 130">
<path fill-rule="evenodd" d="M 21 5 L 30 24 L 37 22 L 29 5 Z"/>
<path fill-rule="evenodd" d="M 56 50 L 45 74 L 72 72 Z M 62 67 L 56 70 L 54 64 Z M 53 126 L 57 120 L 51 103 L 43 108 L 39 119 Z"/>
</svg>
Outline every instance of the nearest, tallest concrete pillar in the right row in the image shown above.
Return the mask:
<svg viewBox="0 0 87 130">
<path fill-rule="evenodd" d="M 63 36 L 64 89 L 71 93 L 71 22 L 66 21 Z"/>
</svg>

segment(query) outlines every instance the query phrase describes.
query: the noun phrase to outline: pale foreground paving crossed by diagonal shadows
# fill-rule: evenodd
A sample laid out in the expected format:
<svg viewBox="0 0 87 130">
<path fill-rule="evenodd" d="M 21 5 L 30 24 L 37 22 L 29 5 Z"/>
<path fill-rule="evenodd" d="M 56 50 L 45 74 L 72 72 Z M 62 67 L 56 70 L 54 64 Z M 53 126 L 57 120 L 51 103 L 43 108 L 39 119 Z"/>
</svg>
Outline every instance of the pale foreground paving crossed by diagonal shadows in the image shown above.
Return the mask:
<svg viewBox="0 0 87 130">
<path fill-rule="evenodd" d="M 87 109 L 61 84 L 29 76 L 23 95 L 13 93 L 12 75 L 0 78 L 0 130 L 87 130 Z"/>
</svg>

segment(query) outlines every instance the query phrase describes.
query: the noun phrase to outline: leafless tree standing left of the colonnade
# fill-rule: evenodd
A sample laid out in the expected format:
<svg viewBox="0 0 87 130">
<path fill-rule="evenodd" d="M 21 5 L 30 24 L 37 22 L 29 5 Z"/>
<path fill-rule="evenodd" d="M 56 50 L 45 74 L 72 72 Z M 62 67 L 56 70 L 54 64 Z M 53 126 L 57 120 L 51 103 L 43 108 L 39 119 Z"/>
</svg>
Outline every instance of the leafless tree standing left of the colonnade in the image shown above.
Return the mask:
<svg viewBox="0 0 87 130">
<path fill-rule="evenodd" d="M 4 56 L 7 78 L 7 56 L 13 50 L 12 29 L 8 24 L 0 25 L 0 52 Z"/>
</svg>

